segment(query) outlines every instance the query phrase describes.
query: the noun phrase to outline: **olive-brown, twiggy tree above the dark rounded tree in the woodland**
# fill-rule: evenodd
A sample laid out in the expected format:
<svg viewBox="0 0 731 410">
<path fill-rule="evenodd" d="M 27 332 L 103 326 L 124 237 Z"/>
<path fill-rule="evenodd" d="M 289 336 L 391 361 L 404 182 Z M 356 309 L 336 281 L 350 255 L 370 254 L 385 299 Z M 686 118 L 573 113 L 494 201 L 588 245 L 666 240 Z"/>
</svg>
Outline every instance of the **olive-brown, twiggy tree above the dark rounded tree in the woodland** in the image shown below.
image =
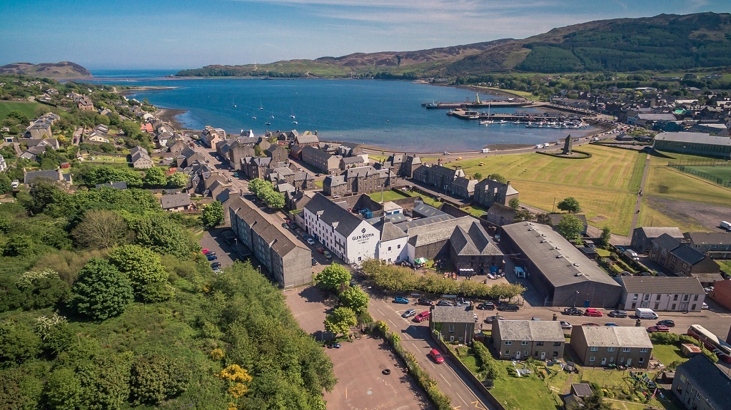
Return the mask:
<svg viewBox="0 0 731 410">
<path fill-rule="evenodd" d="M 83 249 L 105 249 L 129 241 L 124 218 L 113 211 L 90 209 L 71 231 L 76 244 Z"/>
</svg>

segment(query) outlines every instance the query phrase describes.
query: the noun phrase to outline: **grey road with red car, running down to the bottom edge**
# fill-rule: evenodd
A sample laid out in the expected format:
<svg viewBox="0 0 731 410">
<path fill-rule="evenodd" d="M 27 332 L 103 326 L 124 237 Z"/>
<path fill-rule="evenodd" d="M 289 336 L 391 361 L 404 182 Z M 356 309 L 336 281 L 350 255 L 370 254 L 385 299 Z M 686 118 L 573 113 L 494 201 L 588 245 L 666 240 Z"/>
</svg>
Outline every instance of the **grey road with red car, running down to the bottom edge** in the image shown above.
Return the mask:
<svg viewBox="0 0 731 410">
<path fill-rule="evenodd" d="M 419 362 L 419 365 L 428 372 L 428 374 L 436 380 L 439 390 L 448 395 L 452 399 L 452 408 L 458 410 L 464 409 L 489 409 L 489 403 L 479 392 L 475 392 L 469 387 L 465 380 L 466 376 L 450 362 L 450 357 L 445 358 L 445 363 L 441 365 L 435 364 L 429 357 L 428 353 L 431 349 L 437 349 L 437 344 L 429 337 L 428 320 L 422 323 L 412 322 L 411 318 L 404 319 L 401 314 L 408 309 L 428 310 L 427 306 L 412 306 L 404 304 L 391 303 L 391 298 L 379 298 L 371 295 L 368 302 L 368 312 L 374 320 L 383 320 L 388 324 L 391 331 L 401 336 L 401 345 L 412 352 Z"/>
</svg>

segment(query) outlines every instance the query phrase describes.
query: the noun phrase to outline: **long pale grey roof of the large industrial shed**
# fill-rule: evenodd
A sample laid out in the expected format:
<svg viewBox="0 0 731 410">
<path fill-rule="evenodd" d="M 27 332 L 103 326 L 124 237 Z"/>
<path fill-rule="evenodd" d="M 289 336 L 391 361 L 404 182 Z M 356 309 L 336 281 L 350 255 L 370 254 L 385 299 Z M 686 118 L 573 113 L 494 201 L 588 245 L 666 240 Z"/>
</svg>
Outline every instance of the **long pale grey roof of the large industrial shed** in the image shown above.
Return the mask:
<svg viewBox="0 0 731 410">
<path fill-rule="evenodd" d="M 503 225 L 501 228 L 520 247 L 523 253 L 521 258 L 533 261 L 554 287 L 583 282 L 599 282 L 619 287 L 602 268 L 586 258 L 550 226 L 520 222 Z"/>
</svg>

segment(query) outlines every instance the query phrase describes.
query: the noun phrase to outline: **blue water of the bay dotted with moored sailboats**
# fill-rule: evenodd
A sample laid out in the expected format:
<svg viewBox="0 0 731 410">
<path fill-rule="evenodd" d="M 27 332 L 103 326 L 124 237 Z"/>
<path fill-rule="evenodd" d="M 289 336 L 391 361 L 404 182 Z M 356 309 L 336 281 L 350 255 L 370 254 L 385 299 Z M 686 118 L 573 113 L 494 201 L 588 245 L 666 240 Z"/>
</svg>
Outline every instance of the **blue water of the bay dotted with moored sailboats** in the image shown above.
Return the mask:
<svg viewBox="0 0 731 410">
<path fill-rule="evenodd" d="M 137 74 L 129 71 L 94 73 L 105 77 L 95 82 L 176 87 L 140 90 L 134 96 L 140 101 L 147 98 L 158 107 L 186 110 L 177 119 L 188 128 L 202 129 L 212 125 L 235 134 L 249 129 L 255 134 L 296 129 L 317 131 L 321 140 L 357 142 L 385 150 L 461 152 L 480 150 L 491 144 L 556 142 L 569 133 L 580 136 L 596 131 L 595 128 L 526 128 L 510 123 L 485 126 L 477 121 L 459 120 L 448 116 L 447 110 L 425 109 L 421 104 L 474 100 L 474 91 L 417 82 L 175 79 L 159 78 L 171 74 L 167 71 L 155 74 L 158 78 L 144 78 L 145 73 L 140 74 L 140 71 Z M 501 100 L 504 97 L 480 93 L 480 99 Z M 540 112 L 539 109 L 518 110 Z M 491 112 L 515 111 L 512 108 L 491 109 Z"/>
</svg>

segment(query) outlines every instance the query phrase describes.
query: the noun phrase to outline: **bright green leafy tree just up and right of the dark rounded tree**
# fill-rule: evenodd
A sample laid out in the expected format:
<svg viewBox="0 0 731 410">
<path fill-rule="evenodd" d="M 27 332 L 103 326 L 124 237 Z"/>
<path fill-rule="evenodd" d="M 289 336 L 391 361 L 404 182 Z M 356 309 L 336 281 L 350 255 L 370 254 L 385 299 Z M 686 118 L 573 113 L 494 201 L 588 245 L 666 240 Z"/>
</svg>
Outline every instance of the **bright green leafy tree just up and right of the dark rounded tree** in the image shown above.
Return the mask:
<svg viewBox="0 0 731 410">
<path fill-rule="evenodd" d="M 160 255 L 148 248 L 139 245 L 124 245 L 109 255 L 109 261 L 122 274 L 126 274 L 135 294 L 141 296 L 145 301 L 151 301 L 152 296 L 145 293 L 148 285 L 167 281 L 168 274 L 162 267 Z M 159 295 L 155 296 L 155 299 L 159 298 Z"/>
</svg>

